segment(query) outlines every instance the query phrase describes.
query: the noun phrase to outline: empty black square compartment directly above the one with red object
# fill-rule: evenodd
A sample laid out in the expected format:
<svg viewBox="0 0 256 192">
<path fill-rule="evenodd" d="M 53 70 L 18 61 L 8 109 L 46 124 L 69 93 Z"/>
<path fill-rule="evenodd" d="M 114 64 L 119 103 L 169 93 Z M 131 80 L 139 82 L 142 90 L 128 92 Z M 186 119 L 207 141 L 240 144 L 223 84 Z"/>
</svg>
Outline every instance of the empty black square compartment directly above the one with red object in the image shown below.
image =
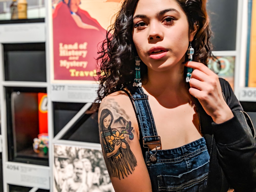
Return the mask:
<svg viewBox="0 0 256 192">
<path fill-rule="evenodd" d="M 45 43 L 3 44 L 6 81 L 46 82 Z"/>
</svg>

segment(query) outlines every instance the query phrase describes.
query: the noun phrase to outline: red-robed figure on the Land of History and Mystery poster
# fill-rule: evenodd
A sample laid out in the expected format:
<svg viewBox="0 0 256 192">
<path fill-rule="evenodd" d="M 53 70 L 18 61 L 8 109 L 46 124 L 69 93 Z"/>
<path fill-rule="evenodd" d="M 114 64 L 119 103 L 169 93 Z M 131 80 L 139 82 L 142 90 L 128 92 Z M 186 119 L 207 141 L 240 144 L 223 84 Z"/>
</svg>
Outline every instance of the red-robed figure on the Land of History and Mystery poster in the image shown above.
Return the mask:
<svg viewBox="0 0 256 192">
<path fill-rule="evenodd" d="M 80 4 L 81 0 L 62 0 L 53 11 L 55 79 L 97 79 L 95 58 L 106 30 Z"/>
</svg>

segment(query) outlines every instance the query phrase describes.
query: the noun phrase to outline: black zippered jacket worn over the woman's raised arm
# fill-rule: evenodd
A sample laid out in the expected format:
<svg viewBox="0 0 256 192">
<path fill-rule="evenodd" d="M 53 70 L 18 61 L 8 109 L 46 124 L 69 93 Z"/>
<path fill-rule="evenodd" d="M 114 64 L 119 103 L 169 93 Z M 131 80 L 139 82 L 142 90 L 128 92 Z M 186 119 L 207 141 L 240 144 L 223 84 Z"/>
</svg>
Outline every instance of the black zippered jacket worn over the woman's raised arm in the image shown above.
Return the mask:
<svg viewBox="0 0 256 192">
<path fill-rule="evenodd" d="M 256 140 L 250 118 L 234 95 L 229 83 L 220 78 L 224 97 L 234 117 L 216 124 L 197 103 L 201 132 L 210 154 L 207 192 L 226 192 L 229 187 L 256 191 Z"/>
</svg>

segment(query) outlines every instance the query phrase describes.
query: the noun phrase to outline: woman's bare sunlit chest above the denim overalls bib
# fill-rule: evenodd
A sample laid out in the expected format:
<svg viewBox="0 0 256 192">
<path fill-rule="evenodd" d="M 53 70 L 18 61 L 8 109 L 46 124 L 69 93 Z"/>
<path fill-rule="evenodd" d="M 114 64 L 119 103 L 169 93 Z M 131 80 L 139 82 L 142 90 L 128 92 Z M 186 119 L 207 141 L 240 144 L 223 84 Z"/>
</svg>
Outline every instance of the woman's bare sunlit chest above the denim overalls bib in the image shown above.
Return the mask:
<svg viewBox="0 0 256 192">
<path fill-rule="evenodd" d="M 172 109 L 155 104 L 151 110 L 162 149 L 180 147 L 202 137 L 199 115 L 190 104 Z"/>
</svg>

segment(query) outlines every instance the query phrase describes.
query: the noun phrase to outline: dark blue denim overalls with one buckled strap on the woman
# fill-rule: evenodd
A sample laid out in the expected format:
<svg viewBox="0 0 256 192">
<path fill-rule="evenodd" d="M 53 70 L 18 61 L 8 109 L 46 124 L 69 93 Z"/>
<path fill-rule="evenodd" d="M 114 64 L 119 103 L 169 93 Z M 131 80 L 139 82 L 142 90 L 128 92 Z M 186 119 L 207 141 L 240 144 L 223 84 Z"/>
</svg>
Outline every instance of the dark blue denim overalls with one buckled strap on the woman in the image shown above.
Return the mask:
<svg viewBox="0 0 256 192">
<path fill-rule="evenodd" d="M 137 88 L 135 92 L 131 91 L 131 93 L 137 120 L 140 122 L 143 147 L 151 144 L 161 146 L 161 139 L 156 132 L 148 96 L 144 94 L 142 88 Z M 148 149 L 144 156 L 153 192 L 205 191 L 210 156 L 204 137 L 174 149 L 157 150 L 157 148 L 159 147 L 153 151 Z"/>
</svg>

